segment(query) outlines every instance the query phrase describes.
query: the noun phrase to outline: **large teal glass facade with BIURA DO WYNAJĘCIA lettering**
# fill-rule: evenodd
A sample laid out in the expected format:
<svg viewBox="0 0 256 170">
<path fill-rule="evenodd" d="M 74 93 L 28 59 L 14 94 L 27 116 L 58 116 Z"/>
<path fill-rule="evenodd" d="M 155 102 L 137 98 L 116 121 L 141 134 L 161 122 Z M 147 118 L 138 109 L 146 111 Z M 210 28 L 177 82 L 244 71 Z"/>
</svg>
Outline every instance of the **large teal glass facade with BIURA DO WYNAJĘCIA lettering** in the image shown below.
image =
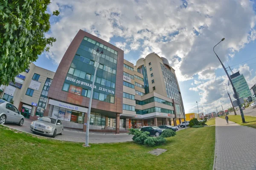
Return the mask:
<svg viewBox="0 0 256 170">
<path fill-rule="evenodd" d="M 103 51 L 103 54 L 97 52 Z M 94 83 L 93 99 L 114 103 L 118 52 L 88 37 L 84 37 L 70 65 L 62 90 L 90 97 L 93 74 L 99 64 Z"/>
</svg>

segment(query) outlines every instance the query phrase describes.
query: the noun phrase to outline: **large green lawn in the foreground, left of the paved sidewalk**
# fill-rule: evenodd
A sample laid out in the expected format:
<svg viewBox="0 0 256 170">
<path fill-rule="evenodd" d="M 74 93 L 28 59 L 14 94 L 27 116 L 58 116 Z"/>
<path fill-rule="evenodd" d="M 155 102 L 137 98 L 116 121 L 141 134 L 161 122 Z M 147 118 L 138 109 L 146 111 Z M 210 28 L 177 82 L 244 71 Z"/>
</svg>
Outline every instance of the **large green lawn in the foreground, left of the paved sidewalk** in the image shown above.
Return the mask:
<svg viewBox="0 0 256 170">
<path fill-rule="evenodd" d="M 155 147 L 157 148 L 157 147 Z M 180 130 L 158 148 L 160 156 L 133 142 L 62 142 L 0 126 L 0 170 L 212 170 L 215 127 Z"/>
</svg>

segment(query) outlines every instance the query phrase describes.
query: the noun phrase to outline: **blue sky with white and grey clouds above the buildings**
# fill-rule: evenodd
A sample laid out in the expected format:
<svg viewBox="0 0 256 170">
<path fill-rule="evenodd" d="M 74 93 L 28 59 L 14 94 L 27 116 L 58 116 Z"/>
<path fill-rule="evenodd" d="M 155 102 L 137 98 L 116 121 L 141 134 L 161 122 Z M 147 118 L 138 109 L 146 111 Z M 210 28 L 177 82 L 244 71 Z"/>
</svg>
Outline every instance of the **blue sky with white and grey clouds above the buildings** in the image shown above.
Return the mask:
<svg viewBox="0 0 256 170">
<path fill-rule="evenodd" d="M 110 42 L 136 61 L 151 52 L 169 59 L 185 113 L 231 106 L 224 63 L 256 83 L 256 0 L 52 0 L 46 37 L 57 41 L 35 64 L 56 71 L 79 29 Z M 250 59 L 250 60 L 249 60 Z M 249 60 L 249 61 L 247 61 Z M 229 71 L 230 73 L 230 71 Z"/>
</svg>

